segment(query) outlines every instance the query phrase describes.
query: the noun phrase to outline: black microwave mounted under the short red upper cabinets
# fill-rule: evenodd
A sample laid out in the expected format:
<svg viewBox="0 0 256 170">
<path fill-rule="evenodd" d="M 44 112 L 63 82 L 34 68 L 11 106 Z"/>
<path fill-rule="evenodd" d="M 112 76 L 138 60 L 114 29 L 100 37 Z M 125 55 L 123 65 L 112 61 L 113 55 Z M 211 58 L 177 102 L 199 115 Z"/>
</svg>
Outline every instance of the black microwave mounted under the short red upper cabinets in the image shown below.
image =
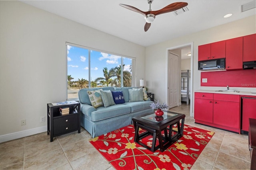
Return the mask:
<svg viewBox="0 0 256 170">
<path fill-rule="evenodd" d="M 198 70 L 224 70 L 225 59 L 198 61 Z"/>
</svg>

